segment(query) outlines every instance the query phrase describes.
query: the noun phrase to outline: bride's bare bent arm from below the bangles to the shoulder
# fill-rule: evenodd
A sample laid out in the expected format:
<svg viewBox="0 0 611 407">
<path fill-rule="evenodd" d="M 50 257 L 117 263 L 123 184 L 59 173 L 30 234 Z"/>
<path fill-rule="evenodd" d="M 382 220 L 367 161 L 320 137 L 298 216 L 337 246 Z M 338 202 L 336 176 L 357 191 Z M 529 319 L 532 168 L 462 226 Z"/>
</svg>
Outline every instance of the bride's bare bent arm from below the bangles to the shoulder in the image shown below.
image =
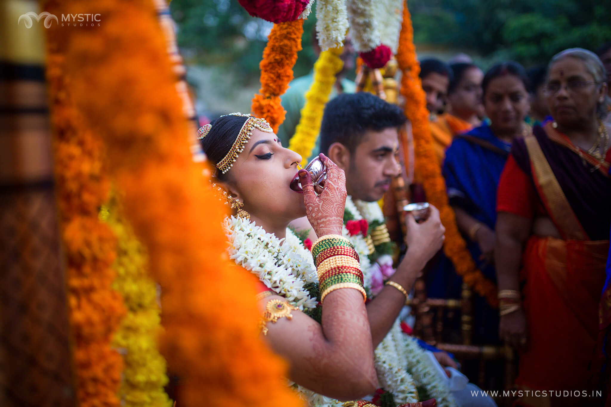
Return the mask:
<svg viewBox="0 0 611 407">
<path fill-rule="evenodd" d="M 259 301 L 263 312 L 267 297 Z M 378 388 L 363 295 L 340 289 L 324 298 L 322 325 L 293 311 L 293 319 L 267 323 L 271 347 L 290 362 L 290 379 L 316 393 L 354 400 Z"/>
</svg>

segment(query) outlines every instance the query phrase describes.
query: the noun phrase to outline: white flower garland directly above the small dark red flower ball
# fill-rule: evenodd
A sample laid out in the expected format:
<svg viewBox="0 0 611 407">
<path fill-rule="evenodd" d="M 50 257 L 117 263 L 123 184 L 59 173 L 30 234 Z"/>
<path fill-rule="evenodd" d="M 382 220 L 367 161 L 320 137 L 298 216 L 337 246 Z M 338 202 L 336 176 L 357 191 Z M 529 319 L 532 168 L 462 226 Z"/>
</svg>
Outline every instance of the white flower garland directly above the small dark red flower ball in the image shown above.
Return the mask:
<svg viewBox="0 0 611 407">
<path fill-rule="evenodd" d="M 377 0 L 346 0 L 350 34 L 357 52 L 371 51 L 381 43 L 374 12 L 376 6 Z"/>
</svg>

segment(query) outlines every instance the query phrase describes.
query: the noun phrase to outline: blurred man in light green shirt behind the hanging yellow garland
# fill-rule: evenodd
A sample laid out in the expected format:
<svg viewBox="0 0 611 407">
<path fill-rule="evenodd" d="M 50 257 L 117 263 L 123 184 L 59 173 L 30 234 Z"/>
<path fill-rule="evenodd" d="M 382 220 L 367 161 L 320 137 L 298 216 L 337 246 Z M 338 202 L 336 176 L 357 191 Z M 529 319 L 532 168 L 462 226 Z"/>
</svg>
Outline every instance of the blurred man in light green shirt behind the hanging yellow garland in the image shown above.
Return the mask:
<svg viewBox="0 0 611 407">
<path fill-rule="evenodd" d="M 315 30 L 313 30 L 312 35 L 312 46 L 314 47 L 316 55 L 320 55 L 320 47 L 318 46 L 318 41 L 316 40 Z M 344 49 L 342 55 L 340 56 L 344 65 L 342 70 L 335 75 L 335 77 L 337 77 L 337 81 L 331 90 L 329 100 L 335 98 L 335 96 L 339 95 L 340 93 L 354 93 L 356 85 L 353 81 L 346 79 L 345 75 L 347 72 L 354 69 L 355 57 L 356 52 L 354 52 L 352 40 L 348 35 L 344 40 Z M 297 124 L 299 124 L 299 119 L 301 118 L 301 109 L 305 105 L 305 93 L 310 89 L 310 85 L 312 85 L 313 81 L 314 71 L 305 76 L 293 79 L 293 81 L 288 84 L 287 92 L 282 95 L 282 107 L 287 110 L 287 116 L 285 117 L 284 122 L 280 125 L 276 135 L 280 140 L 282 140 L 283 146 L 288 146 L 288 142 L 290 141 L 291 137 L 293 137 L 293 134 L 295 134 L 295 128 L 297 127 Z M 319 148 L 320 144 L 319 140 L 317 139 L 316 146 L 312 151 L 312 156 L 318 155 Z"/>
</svg>

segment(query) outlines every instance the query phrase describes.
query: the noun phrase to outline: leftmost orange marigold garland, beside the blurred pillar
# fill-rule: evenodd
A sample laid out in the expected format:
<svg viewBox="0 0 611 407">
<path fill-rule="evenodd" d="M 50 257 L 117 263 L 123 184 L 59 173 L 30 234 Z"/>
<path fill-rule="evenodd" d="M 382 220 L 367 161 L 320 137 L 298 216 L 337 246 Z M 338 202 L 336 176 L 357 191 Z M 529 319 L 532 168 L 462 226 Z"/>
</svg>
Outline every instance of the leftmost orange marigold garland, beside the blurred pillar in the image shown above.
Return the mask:
<svg viewBox="0 0 611 407">
<path fill-rule="evenodd" d="M 46 9 L 57 13 L 57 6 Z M 55 176 L 68 277 L 70 325 L 78 403 L 83 407 L 118 407 L 123 367 L 111 339 L 125 312 L 114 279 L 115 237 L 98 220 L 106 201 L 109 179 L 103 165 L 103 145 L 79 114 L 66 74 L 66 43 L 61 28 L 47 35 L 47 77 L 54 136 Z"/>
</svg>

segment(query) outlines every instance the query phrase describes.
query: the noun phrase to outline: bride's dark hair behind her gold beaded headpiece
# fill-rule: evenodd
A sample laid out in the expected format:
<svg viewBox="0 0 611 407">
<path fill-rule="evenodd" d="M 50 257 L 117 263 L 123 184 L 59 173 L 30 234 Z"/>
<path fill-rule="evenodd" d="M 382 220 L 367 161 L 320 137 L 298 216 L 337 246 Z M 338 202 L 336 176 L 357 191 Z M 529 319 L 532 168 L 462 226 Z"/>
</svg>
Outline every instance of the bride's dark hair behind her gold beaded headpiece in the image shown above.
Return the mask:
<svg viewBox="0 0 611 407">
<path fill-rule="evenodd" d="M 247 117 L 229 115 L 219 117 L 210 123 L 212 128 L 208 131 L 206 137 L 199 140 L 199 143 L 208 160 L 215 166 L 229 153 L 247 119 Z M 216 168 L 215 176 L 219 181 L 222 181 L 227 178 L 227 173 L 223 174 Z"/>
</svg>

